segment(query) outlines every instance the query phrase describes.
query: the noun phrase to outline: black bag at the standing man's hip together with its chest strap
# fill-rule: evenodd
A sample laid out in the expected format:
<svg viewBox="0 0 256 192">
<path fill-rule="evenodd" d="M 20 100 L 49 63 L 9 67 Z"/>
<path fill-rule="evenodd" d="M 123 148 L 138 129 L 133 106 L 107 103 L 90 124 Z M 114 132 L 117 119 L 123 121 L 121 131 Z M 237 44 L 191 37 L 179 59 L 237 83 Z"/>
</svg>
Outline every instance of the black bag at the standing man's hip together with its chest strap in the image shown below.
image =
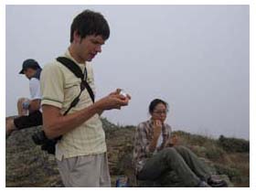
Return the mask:
<svg viewBox="0 0 256 192">
<path fill-rule="evenodd" d="M 85 68 L 84 73 L 82 73 L 80 67 L 71 59 L 65 58 L 65 57 L 59 57 L 57 60 L 64 65 L 66 68 L 68 68 L 77 78 L 81 79 L 80 83 L 80 93 L 79 95 L 70 103 L 69 108 L 66 112 L 63 113 L 63 115 L 66 115 L 71 108 L 75 107 L 78 102 L 80 101 L 80 94 L 85 89 L 89 92 L 91 101 L 94 102 L 94 94 L 91 90 L 90 85 L 88 84 L 87 80 L 84 80 L 84 78 L 87 78 L 87 70 Z M 32 139 L 35 144 L 41 145 L 41 149 L 43 151 L 47 151 L 48 154 L 55 155 L 55 145 L 58 143 L 58 141 L 61 139 L 62 136 L 59 136 L 55 139 L 48 139 L 44 131 L 40 131 L 37 133 L 34 133 L 32 135 Z"/>
</svg>

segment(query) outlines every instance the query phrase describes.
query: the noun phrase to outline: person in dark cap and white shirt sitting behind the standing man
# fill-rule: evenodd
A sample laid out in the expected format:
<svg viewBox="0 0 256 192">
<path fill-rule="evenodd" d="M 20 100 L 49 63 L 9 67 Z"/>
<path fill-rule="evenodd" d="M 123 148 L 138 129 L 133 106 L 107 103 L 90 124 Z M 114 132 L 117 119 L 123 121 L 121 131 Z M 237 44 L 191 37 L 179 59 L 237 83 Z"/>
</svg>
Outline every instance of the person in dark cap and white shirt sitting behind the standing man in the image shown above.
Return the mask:
<svg viewBox="0 0 256 192">
<path fill-rule="evenodd" d="M 6 138 L 15 130 L 38 126 L 42 124 L 40 112 L 41 92 L 40 73 L 41 67 L 35 59 L 27 59 L 23 62 L 19 74 L 25 74 L 29 80 L 30 100 L 20 98 L 17 101 L 18 117 L 6 119 Z M 28 112 L 28 115 L 27 115 Z"/>
</svg>

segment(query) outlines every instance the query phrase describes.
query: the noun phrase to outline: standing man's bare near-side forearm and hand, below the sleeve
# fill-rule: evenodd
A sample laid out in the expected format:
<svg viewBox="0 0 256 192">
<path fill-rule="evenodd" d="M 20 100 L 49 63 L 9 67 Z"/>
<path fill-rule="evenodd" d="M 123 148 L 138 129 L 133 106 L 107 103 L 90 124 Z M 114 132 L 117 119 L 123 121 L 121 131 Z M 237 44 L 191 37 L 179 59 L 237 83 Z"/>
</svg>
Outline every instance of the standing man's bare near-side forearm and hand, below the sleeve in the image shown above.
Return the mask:
<svg viewBox="0 0 256 192">
<path fill-rule="evenodd" d="M 128 105 L 130 97 L 123 97 L 120 94 L 110 94 L 94 104 L 80 110 L 63 116 L 60 109 L 51 105 L 43 105 L 43 124 L 44 131 L 49 139 L 59 137 L 64 133 L 75 129 L 81 123 L 88 121 L 94 114 L 101 113 L 104 110 L 121 109 Z"/>
</svg>

